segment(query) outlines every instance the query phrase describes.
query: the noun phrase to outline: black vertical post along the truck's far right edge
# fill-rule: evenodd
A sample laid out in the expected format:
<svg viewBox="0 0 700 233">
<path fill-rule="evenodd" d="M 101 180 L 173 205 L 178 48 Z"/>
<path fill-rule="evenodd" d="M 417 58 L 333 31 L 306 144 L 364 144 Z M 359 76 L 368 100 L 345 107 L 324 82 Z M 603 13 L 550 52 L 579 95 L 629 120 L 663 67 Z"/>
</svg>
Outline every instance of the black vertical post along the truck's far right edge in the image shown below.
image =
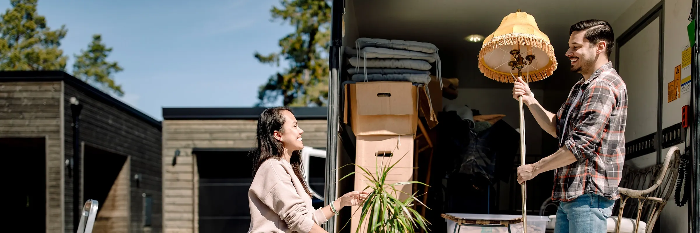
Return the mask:
<svg viewBox="0 0 700 233">
<path fill-rule="evenodd" d="M 691 182 L 691 195 L 690 195 L 690 205 L 688 206 L 688 232 L 700 232 L 700 193 L 698 189 L 700 188 L 700 62 L 698 62 L 698 55 L 700 53 L 700 25 L 698 24 L 700 20 L 700 1 L 692 1 L 692 20 L 695 20 L 695 43 L 692 46 L 691 52 L 691 104 L 692 106 L 692 128 L 690 130 L 691 139 L 691 166 L 690 171 L 692 172 L 692 182 Z"/>
</svg>

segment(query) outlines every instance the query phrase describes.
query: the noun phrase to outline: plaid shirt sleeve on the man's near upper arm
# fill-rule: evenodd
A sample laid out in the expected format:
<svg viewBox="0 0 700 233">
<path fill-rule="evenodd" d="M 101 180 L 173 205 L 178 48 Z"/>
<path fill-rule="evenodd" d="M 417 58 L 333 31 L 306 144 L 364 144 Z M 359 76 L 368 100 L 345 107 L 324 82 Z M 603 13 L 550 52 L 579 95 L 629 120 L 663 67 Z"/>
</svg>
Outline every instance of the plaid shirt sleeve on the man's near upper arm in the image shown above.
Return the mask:
<svg viewBox="0 0 700 233">
<path fill-rule="evenodd" d="M 608 119 L 615 108 L 615 89 L 610 83 L 591 83 L 582 94 L 580 111 L 571 136 L 564 141 L 564 147 L 573 153 L 576 160 L 593 157 L 595 147 L 605 135 Z"/>
</svg>

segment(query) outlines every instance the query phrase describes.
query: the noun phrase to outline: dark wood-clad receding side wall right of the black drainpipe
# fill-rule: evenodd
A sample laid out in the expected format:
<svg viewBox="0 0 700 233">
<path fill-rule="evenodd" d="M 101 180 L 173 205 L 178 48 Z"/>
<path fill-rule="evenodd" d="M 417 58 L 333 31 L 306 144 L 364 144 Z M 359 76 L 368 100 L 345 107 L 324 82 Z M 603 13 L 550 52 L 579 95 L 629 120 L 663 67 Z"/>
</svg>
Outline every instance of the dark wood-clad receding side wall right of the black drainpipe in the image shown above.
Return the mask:
<svg viewBox="0 0 700 233">
<path fill-rule="evenodd" d="M 76 97 L 83 110 L 80 113 L 80 141 L 85 147 L 95 148 L 107 153 L 128 157 L 129 176 L 128 198 L 130 200 L 128 218 L 120 220 L 129 228 L 129 232 L 163 232 L 162 231 L 162 164 L 160 155 L 160 127 L 151 125 L 137 118 L 128 111 L 104 101 L 95 94 L 84 92 L 82 88 L 66 83 L 64 85 L 64 130 L 65 157 L 73 157 L 73 116 L 70 98 Z M 83 159 L 85 156 L 83 156 Z M 139 174 L 141 181 L 137 187 L 134 175 Z M 66 233 L 73 230 L 73 180 L 66 176 L 65 222 Z M 83 185 L 90 185 L 85 184 Z M 150 227 L 144 226 L 144 197 L 153 197 L 153 218 Z M 88 197 L 89 198 L 89 197 Z M 99 214 L 98 214 L 99 217 Z"/>
</svg>

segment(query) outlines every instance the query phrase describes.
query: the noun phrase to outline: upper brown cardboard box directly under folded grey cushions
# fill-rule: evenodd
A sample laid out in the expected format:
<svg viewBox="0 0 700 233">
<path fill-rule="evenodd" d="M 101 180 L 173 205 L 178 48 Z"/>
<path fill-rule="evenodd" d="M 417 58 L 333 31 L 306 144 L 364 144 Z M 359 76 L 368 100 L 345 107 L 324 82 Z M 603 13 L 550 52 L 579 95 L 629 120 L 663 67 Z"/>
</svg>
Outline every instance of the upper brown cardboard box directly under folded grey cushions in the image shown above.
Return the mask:
<svg viewBox="0 0 700 233">
<path fill-rule="evenodd" d="M 414 135 L 418 94 L 418 87 L 411 82 L 347 84 L 344 123 L 349 123 L 356 136 Z"/>
</svg>

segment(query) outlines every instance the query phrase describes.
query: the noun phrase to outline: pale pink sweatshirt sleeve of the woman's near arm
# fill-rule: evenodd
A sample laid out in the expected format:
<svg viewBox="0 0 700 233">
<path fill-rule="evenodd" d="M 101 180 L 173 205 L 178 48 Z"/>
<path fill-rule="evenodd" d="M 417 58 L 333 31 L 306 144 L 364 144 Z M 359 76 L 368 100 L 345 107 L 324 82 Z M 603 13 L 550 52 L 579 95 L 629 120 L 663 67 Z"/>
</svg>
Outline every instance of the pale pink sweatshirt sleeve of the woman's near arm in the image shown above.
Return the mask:
<svg viewBox="0 0 700 233">
<path fill-rule="evenodd" d="M 274 170 L 276 169 L 272 169 L 273 172 Z M 267 192 L 262 202 L 287 223 L 289 230 L 310 232 L 311 227 L 314 226 L 313 217 L 309 216 L 304 199 L 297 195 L 289 174 L 280 170 L 267 175 L 279 177 L 279 182 L 276 182 L 274 187 Z"/>
</svg>

